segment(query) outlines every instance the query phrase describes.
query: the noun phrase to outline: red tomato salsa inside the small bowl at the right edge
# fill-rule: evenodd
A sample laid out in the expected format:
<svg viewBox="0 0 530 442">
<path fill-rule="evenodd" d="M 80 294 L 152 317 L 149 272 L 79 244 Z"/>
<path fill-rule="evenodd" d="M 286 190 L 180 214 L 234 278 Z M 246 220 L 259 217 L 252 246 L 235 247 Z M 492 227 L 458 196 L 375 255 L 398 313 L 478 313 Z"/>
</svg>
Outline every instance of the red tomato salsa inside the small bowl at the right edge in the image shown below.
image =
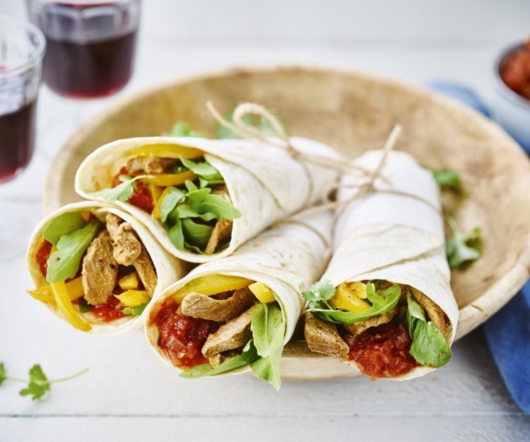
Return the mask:
<svg viewBox="0 0 530 442">
<path fill-rule="evenodd" d="M 500 77 L 512 91 L 530 100 L 530 40 L 508 54 L 500 66 Z"/>
</svg>

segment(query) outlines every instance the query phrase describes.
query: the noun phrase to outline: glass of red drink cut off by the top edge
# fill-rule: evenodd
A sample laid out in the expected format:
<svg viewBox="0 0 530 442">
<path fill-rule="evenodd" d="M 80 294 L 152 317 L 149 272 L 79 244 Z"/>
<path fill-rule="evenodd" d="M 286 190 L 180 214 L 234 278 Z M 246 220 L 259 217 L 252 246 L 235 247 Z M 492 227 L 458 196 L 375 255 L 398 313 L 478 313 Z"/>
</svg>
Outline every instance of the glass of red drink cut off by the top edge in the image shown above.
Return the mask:
<svg viewBox="0 0 530 442">
<path fill-rule="evenodd" d="M 46 36 L 44 81 L 69 98 L 120 91 L 133 71 L 141 0 L 26 0 Z"/>
</svg>

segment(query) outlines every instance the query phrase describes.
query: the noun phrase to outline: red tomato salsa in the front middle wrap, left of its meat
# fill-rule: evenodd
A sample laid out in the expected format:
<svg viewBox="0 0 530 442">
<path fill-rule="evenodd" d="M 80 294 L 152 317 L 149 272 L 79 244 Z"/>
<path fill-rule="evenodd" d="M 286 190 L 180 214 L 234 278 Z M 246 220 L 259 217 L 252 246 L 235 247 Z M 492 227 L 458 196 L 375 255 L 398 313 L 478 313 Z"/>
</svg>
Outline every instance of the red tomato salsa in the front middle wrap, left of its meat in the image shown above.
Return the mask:
<svg viewBox="0 0 530 442">
<path fill-rule="evenodd" d="M 153 313 L 151 323 L 156 324 L 160 332 L 158 347 L 165 351 L 174 366 L 191 368 L 208 362 L 201 349 L 208 335 L 218 329 L 217 322 L 182 315 L 180 306 L 172 299 Z"/>
</svg>

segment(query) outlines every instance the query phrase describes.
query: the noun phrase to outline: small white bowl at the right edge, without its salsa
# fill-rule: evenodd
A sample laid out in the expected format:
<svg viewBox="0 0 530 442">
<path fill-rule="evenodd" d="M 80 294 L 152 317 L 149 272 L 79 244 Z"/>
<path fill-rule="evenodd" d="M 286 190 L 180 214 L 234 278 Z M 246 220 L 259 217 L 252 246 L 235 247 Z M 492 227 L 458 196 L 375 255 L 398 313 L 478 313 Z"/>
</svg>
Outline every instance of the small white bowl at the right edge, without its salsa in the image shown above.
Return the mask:
<svg viewBox="0 0 530 442">
<path fill-rule="evenodd" d="M 493 71 L 493 117 L 506 131 L 530 153 L 530 100 L 515 93 L 500 78 L 500 68 L 508 55 L 523 46 L 513 45 L 503 51 L 495 61 Z"/>
</svg>

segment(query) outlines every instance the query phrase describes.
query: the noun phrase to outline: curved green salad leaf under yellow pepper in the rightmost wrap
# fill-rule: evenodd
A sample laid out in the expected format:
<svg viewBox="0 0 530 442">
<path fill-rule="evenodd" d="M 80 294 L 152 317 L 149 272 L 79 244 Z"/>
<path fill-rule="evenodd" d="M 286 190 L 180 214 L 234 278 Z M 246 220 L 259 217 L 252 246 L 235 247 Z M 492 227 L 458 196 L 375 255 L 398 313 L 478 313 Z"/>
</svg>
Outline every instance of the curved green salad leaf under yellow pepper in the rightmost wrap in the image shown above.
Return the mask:
<svg viewBox="0 0 530 442">
<path fill-rule="evenodd" d="M 392 284 L 388 289 L 382 291 L 379 291 L 379 289 L 374 290 L 372 284 L 366 284 L 366 294 L 372 306 L 362 312 L 348 312 L 346 310 L 336 310 L 329 305 L 327 301 L 335 294 L 333 286 L 331 286 L 331 289 L 333 289 L 332 293 L 329 286 L 331 286 L 329 281 L 319 281 L 310 286 L 307 291 L 302 292 L 302 296 L 309 302 L 305 312 L 314 312 L 319 318 L 337 324 L 351 324 L 367 320 L 382 313 L 389 313 L 397 305 L 401 297 L 399 284 Z"/>
</svg>

